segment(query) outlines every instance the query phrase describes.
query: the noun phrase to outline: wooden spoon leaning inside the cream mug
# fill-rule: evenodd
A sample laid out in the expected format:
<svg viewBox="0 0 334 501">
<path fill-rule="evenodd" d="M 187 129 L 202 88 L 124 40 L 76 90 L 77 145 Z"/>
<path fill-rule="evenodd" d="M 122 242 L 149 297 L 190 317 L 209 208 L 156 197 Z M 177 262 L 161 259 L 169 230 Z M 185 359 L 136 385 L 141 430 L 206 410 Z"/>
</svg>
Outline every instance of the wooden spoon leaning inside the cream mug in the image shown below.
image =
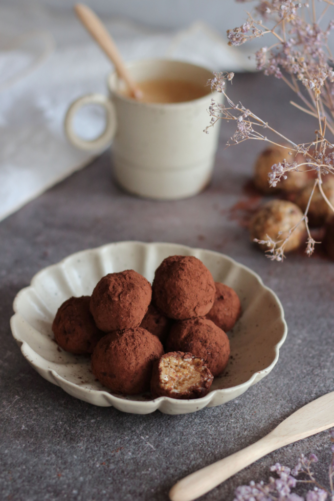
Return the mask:
<svg viewBox="0 0 334 501">
<path fill-rule="evenodd" d="M 142 98 L 142 92 L 126 69 L 122 56 L 102 21 L 92 9 L 84 4 L 76 4 L 74 10 L 88 32 L 96 40 L 112 63 L 114 63 L 118 76 L 126 82 L 132 97 L 140 100 Z"/>
</svg>

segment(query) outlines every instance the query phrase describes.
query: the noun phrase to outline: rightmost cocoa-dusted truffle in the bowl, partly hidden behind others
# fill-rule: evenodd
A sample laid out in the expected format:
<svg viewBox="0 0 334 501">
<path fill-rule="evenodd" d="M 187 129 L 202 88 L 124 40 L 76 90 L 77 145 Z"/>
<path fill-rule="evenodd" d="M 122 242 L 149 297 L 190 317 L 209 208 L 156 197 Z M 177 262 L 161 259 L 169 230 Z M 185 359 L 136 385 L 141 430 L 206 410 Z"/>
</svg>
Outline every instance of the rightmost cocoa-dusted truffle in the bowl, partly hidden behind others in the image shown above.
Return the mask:
<svg viewBox="0 0 334 501">
<path fill-rule="evenodd" d="M 215 282 L 216 297 L 213 307 L 206 315 L 224 332 L 233 329 L 235 322 L 241 315 L 241 305 L 238 295 L 231 287 Z"/>
</svg>

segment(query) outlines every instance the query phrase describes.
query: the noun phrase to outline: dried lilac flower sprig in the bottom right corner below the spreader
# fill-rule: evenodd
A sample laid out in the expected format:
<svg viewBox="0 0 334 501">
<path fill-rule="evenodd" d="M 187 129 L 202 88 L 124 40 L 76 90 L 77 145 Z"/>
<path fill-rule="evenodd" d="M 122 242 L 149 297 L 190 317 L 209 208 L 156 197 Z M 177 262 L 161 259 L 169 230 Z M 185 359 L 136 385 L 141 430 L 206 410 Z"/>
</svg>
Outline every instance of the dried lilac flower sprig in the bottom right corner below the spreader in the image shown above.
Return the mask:
<svg viewBox="0 0 334 501">
<path fill-rule="evenodd" d="M 315 479 L 312 465 L 318 461 L 316 455 L 309 454 L 305 457 L 301 454 L 292 470 L 279 463 L 270 467 L 270 471 L 276 473 L 278 478 L 270 476 L 268 483 L 262 480 L 255 483 L 252 480 L 249 485 L 237 487 L 234 501 L 334 501 L 334 429 L 329 431 L 329 436 L 332 442 L 332 457 L 328 468 L 329 489 Z M 313 490 L 308 490 L 305 498 L 291 492 L 298 483 L 313 484 Z"/>
</svg>

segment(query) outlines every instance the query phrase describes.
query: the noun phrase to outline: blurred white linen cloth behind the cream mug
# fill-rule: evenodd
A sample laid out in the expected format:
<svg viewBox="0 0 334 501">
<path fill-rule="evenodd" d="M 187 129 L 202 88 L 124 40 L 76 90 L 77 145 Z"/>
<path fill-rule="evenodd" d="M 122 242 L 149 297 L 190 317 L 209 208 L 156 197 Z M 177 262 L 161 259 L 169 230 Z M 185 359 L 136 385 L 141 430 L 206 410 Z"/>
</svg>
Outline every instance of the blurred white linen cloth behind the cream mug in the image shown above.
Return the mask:
<svg viewBox="0 0 334 501">
<path fill-rule="evenodd" d="M 166 57 L 215 71 L 253 70 L 242 52 L 200 22 L 175 33 L 103 21 L 126 61 Z M 64 117 L 79 96 L 107 92 L 111 68 L 74 16 L 0 8 L 0 220 L 94 158 L 67 141 Z M 102 121 L 102 110 L 87 108 L 78 133 L 93 137 Z"/>
</svg>

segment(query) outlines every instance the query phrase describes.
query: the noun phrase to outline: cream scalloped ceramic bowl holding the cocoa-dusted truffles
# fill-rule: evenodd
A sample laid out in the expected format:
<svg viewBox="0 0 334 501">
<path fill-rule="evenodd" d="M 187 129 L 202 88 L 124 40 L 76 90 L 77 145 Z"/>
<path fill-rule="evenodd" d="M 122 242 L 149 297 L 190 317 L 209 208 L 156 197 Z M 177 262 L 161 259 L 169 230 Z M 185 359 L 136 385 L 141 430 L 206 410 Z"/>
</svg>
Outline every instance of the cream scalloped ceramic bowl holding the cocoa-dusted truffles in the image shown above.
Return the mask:
<svg viewBox="0 0 334 501">
<path fill-rule="evenodd" d="M 69 297 L 91 295 L 107 273 L 134 269 L 152 282 L 162 260 L 175 254 L 196 256 L 216 282 L 232 287 L 240 298 L 242 316 L 228 333 L 231 345 L 228 365 L 202 398 L 152 400 L 149 394 L 114 395 L 95 380 L 89 358 L 67 353 L 53 341 L 51 326 L 55 314 Z M 271 371 L 287 332 L 277 296 L 263 285 L 258 275 L 222 254 L 173 243 L 118 242 L 73 254 L 35 275 L 31 285 L 17 295 L 14 311 L 13 336 L 24 357 L 41 376 L 86 402 L 112 405 L 137 414 L 156 409 L 183 414 L 236 398 Z"/>
</svg>

